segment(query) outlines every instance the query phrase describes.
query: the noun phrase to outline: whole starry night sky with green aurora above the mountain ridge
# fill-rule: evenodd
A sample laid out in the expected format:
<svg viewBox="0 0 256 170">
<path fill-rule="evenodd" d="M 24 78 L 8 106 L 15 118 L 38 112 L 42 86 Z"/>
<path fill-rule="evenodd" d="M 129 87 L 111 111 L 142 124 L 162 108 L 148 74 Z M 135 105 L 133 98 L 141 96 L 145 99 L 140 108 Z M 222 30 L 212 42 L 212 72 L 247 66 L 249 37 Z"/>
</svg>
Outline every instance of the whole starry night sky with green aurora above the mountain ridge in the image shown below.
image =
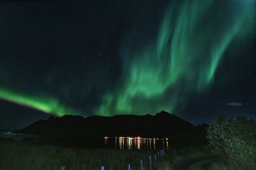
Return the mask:
<svg viewBox="0 0 256 170">
<path fill-rule="evenodd" d="M 1 1 L 0 129 L 50 115 L 256 118 L 255 0 Z"/>
</svg>

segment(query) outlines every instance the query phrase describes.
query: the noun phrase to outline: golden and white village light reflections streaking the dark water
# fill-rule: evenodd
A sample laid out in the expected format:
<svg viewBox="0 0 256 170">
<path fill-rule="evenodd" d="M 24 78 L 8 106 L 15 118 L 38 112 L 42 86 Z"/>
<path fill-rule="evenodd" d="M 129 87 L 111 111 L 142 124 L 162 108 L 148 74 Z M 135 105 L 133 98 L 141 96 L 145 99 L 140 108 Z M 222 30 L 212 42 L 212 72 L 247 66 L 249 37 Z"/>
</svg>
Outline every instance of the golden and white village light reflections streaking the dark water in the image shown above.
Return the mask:
<svg viewBox="0 0 256 170">
<path fill-rule="evenodd" d="M 109 145 L 113 141 L 109 140 L 109 137 L 104 137 L 105 145 Z M 157 148 L 166 148 L 169 149 L 168 138 L 159 139 L 159 138 L 132 138 L 132 137 L 115 137 L 115 148 L 124 149 L 138 149 L 148 148 L 148 149 L 157 149 Z"/>
</svg>

